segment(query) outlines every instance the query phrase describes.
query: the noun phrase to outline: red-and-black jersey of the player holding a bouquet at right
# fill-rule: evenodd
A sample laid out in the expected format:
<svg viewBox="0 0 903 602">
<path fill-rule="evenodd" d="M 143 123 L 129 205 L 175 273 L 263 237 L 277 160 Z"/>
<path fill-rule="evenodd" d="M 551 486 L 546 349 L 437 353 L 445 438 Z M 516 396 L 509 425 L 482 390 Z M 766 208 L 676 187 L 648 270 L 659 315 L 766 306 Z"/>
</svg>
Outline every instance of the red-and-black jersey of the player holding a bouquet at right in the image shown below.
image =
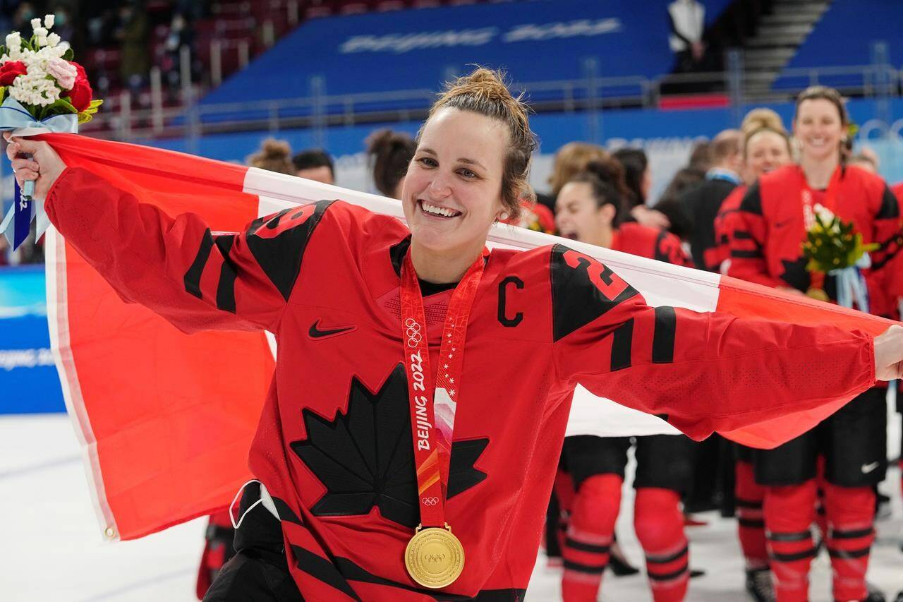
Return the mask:
<svg viewBox="0 0 903 602">
<path fill-rule="evenodd" d="M 749 187 L 735 213 L 728 275 L 768 287 L 806 291 L 812 284 L 805 269 L 803 202 L 805 176 L 798 165 L 786 165 L 764 174 Z M 817 194 L 817 193 L 816 193 Z M 896 299 L 903 295 L 903 254 L 897 198 L 875 174 L 858 167 L 842 169 L 833 212 L 853 221 L 864 242 L 877 242 L 870 253 L 872 267 L 864 270 L 872 314 L 896 315 Z M 833 279 L 825 290 L 833 297 Z"/>
</svg>

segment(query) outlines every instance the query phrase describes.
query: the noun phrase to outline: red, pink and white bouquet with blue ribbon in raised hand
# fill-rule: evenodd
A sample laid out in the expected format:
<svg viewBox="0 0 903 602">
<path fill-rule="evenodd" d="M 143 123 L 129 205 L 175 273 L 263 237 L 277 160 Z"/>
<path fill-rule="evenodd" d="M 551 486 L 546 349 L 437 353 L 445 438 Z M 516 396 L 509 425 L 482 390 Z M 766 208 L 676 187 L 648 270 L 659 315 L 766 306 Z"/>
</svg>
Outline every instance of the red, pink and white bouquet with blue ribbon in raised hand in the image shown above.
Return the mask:
<svg viewBox="0 0 903 602">
<path fill-rule="evenodd" d="M 85 69 L 72 61 L 69 42 L 51 33 L 53 15 L 32 19 L 32 37 L 19 32 L 0 45 L 0 130 L 15 136 L 49 132 L 76 133 L 91 120 L 103 100 L 94 99 Z M 13 209 L 0 223 L 0 232 L 17 248 L 37 218 L 38 236 L 47 228 L 43 208 L 32 202 L 34 184 L 15 190 Z"/>
</svg>

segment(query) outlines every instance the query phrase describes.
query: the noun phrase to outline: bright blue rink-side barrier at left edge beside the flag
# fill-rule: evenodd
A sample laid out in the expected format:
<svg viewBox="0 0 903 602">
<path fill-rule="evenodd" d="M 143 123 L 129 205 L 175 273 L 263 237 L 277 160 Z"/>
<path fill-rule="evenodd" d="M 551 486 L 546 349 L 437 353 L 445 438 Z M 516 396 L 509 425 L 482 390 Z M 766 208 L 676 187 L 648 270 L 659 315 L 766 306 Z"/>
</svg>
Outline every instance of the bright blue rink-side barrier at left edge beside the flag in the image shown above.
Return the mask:
<svg viewBox="0 0 903 602">
<path fill-rule="evenodd" d="M 44 267 L 0 268 L 0 414 L 64 412 L 51 353 Z"/>
</svg>

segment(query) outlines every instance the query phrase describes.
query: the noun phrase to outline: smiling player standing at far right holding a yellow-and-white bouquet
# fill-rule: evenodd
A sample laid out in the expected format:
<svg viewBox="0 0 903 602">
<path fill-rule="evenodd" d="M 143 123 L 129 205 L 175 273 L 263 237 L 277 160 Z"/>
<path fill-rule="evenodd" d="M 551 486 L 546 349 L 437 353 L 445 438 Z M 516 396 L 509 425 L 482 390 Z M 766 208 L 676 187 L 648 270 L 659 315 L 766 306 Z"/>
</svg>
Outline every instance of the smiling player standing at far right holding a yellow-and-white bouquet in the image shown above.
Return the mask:
<svg viewBox="0 0 903 602">
<path fill-rule="evenodd" d="M 822 287 L 833 296 L 833 277 L 810 274 L 801 243 L 805 212 L 821 204 L 853 221 L 865 241 L 877 242 L 865 274 L 870 309 L 895 315 L 903 293 L 898 253 L 903 238 L 897 199 L 874 174 L 842 164 L 848 123 L 836 90 L 806 89 L 797 99 L 794 132 L 800 165 L 788 165 L 749 187 L 736 215 L 742 226 L 731 239 L 731 276 L 805 293 Z M 870 597 L 866 588 L 875 506 L 872 485 L 884 478 L 885 390 L 872 388 L 801 437 L 753 454 L 755 476 L 767 487 L 765 526 L 779 602 L 808 597 L 808 571 L 815 556 L 810 524 L 815 520 L 816 464 L 825 458 L 824 506 L 827 547 L 838 600 Z"/>
</svg>

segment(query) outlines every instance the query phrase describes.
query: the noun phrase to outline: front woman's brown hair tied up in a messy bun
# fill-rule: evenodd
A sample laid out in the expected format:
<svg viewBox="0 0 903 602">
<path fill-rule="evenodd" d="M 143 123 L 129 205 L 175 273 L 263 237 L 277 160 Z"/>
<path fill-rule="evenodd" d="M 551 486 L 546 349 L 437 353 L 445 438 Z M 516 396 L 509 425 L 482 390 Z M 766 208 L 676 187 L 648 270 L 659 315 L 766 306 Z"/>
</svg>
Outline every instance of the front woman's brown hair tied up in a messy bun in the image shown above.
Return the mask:
<svg viewBox="0 0 903 602">
<path fill-rule="evenodd" d="M 479 67 L 470 75 L 446 83 L 427 117 L 429 121 L 442 108 L 457 108 L 496 119 L 507 127 L 507 152 L 502 164 L 502 205 L 508 214 L 506 221 L 517 221 L 521 201 L 532 202 L 535 198 L 527 178 L 530 157 L 538 143 L 530 131 L 529 109 L 523 99 L 523 92 L 515 98 L 508 91 L 504 72 Z M 417 133 L 418 140 L 421 132 L 423 127 Z"/>
</svg>

